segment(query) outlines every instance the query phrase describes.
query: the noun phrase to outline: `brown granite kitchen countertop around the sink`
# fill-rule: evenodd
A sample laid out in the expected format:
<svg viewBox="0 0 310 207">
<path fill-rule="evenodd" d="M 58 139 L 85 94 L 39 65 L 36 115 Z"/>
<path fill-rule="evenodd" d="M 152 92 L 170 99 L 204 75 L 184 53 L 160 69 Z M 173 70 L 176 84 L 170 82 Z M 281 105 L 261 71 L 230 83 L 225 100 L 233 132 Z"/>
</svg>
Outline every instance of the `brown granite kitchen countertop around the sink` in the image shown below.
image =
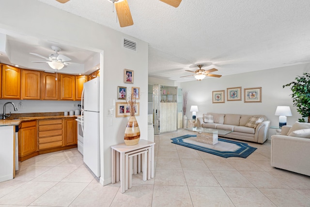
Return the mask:
<svg viewBox="0 0 310 207">
<path fill-rule="evenodd" d="M 13 114 L 12 114 L 13 115 Z M 34 120 L 38 120 L 38 119 L 59 119 L 59 118 L 70 118 L 70 117 L 78 117 L 80 115 L 66 115 L 64 116 L 63 114 L 60 115 L 59 113 L 39 113 L 39 114 L 34 114 L 34 113 L 29 113 L 29 115 L 32 116 L 25 116 L 27 114 L 22 114 L 20 115 L 20 117 L 18 117 L 18 115 L 14 115 L 12 117 L 8 117 L 7 119 L 0 120 L 0 127 L 2 126 L 18 126 L 21 122 L 23 121 L 34 121 Z"/>
</svg>

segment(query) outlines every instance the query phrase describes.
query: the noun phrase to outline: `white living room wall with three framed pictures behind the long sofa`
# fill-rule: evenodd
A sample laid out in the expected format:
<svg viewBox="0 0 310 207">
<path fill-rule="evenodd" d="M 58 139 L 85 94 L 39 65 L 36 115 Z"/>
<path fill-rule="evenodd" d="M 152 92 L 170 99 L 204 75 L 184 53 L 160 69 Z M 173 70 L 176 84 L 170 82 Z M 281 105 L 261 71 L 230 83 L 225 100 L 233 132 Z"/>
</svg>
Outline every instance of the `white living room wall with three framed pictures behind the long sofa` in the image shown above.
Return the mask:
<svg viewBox="0 0 310 207">
<path fill-rule="evenodd" d="M 301 115 L 293 106 L 290 88 L 283 89 L 282 85 L 294 81 L 296 76 L 302 76 L 305 72 L 310 72 L 310 64 L 183 82 L 181 87 L 188 91 L 186 116 L 191 117 L 190 106 L 197 105 L 199 110 L 197 117 L 206 112 L 263 114 L 271 120 L 271 126 L 279 126 L 279 116 L 275 116 L 277 106 L 290 106 L 293 116 L 287 117 L 287 125 L 293 125 Z M 232 87 L 242 87 L 241 101 L 227 101 L 227 88 Z M 244 103 L 244 89 L 255 87 L 262 87 L 262 102 Z M 212 91 L 219 90 L 225 90 L 225 103 L 212 103 Z M 269 137 L 274 132 L 270 129 Z"/>
</svg>

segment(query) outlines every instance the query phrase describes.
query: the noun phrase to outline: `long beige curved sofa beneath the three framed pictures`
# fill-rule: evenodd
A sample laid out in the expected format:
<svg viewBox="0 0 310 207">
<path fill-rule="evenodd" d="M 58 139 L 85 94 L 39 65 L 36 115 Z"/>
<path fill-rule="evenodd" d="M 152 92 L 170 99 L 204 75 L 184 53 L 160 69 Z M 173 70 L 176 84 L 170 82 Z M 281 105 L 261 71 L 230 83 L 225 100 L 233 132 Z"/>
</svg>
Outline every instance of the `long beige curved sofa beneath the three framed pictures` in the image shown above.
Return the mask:
<svg viewBox="0 0 310 207">
<path fill-rule="evenodd" d="M 213 116 L 214 123 L 205 123 L 206 116 Z M 246 127 L 251 117 L 260 117 L 263 120 L 256 127 Z M 227 135 L 220 135 L 237 140 L 245 140 L 255 143 L 264 143 L 267 137 L 267 131 L 270 121 L 264 115 L 243 115 L 243 114 L 222 114 L 222 113 L 206 113 L 203 117 L 197 118 L 198 127 L 217 128 L 232 130 Z"/>
</svg>

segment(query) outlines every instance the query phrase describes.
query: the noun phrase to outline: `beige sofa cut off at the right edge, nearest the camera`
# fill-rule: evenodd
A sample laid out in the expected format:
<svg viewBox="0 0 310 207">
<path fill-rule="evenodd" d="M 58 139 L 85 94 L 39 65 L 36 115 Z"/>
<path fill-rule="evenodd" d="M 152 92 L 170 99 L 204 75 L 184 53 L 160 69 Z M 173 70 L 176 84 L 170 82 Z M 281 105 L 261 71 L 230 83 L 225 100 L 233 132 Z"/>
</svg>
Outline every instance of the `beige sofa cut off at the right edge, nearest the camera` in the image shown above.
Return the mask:
<svg viewBox="0 0 310 207">
<path fill-rule="evenodd" d="M 271 136 L 271 166 L 310 176 L 310 136 L 288 136 L 291 127 L 283 126 L 281 135 Z"/>
</svg>

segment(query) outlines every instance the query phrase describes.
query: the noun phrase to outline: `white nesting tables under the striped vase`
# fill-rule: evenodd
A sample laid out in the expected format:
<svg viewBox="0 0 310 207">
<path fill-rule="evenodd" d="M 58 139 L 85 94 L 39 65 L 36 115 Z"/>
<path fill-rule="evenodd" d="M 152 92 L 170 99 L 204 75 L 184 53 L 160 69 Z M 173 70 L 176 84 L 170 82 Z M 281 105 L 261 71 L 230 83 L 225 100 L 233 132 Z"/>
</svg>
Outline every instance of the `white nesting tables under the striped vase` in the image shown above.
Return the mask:
<svg viewBox="0 0 310 207">
<path fill-rule="evenodd" d="M 131 174 L 131 155 L 143 154 L 142 166 L 143 166 L 143 180 L 154 178 L 154 145 L 155 143 L 140 140 L 138 144 L 127 146 L 125 143 L 111 146 L 112 153 L 112 183 L 121 181 L 121 192 L 128 190 L 131 187 L 131 175 L 128 178 L 128 174 Z M 141 153 L 140 153 L 141 152 Z M 147 153 L 143 153 L 147 152 Z M 147 158 L 147 160 L 145 160 Z M 136 165 L 136 166 L 135 166 Z M 138 169 L 141 166 L 140 159 L 138 159 Z M 130 169 L 129 169 L 130 168 Z M 137 169 L 137 162 L 134 161 L 134 171 Z M 146 169 L 146 170 L 145 170 Z M 138 170 L 139 172 L 140 170 Z M 146 171 L 146 172 L 145 172 Z"/>
</svg>

